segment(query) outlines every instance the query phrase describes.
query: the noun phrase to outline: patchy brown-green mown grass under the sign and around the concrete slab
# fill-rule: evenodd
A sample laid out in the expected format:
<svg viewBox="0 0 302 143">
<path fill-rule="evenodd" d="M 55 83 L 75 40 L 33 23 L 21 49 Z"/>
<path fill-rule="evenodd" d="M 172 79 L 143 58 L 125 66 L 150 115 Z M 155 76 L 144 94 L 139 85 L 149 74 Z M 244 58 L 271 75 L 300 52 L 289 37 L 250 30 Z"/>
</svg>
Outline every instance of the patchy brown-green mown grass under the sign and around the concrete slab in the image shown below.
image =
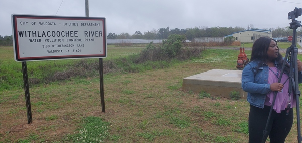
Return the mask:
<svg viewBox="0 0 302 143">
<path fill-rule="evenodd" d="M 141 49 L 109 47 L 104 60 L 139 53 Z M 250 57 L 250 51 L 245 52 Z M 105 113 L 100 103 L 98 76 L 31 87 L 31 124 L 27 124 L 22 85 L 3 89 L 0 142 L 247 142 L 246 99 L 231 100 L 182 90 L 185 77 L 211 69 L 236 70 L 238 54 L 238 49 L 207 49 L 200 59 L 170 68 L 105 74 Z M 16 71 L 12 80 L 22 78 L 21 63 L 14 61 L 13 48 L 0 47 L 0 55 L 0 74 L 3 70 Z M 300 55 L 298 58 L 302 59 Z M 64 65 L 72 61 L 27 64 L 31 70 L 38 65 Z M 286 142 L 296 141 L 295 119 Z"/>
</svg>

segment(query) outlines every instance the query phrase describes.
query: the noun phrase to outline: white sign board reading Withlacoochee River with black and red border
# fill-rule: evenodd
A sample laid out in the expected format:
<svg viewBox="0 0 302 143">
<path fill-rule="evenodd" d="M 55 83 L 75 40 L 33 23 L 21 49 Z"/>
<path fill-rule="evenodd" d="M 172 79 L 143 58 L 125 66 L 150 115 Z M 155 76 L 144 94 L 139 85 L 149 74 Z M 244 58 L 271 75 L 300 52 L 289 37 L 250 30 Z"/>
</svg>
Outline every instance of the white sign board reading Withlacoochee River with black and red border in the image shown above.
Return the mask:
<svg viewBox="0 0 302 143">
<path fill-rule="evenodd" d="M 16 61 L 104 58 L 106 19 L 12 14 Z"/>
</svg>

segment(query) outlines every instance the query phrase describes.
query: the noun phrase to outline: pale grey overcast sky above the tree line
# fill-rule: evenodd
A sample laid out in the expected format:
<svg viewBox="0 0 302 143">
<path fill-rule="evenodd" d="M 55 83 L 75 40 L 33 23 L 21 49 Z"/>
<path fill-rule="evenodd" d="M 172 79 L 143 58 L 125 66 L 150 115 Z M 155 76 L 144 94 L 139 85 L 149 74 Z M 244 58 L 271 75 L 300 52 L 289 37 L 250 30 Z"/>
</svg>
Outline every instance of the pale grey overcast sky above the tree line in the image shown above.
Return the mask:
<svg viewBox="0 0 302 143">
<path fill-rule="evenodd" d="M 133 35 L 194 27 L 284 28 L 301 0 L 89 0 L 89 16 L 105 17 L 108 33 Z M 12 35 L 12 14 L 85 17 L 85 0 L 1 0 L 0 35 Z M 297 18 L 302 20 L 302 16 Z"/>
</svg>

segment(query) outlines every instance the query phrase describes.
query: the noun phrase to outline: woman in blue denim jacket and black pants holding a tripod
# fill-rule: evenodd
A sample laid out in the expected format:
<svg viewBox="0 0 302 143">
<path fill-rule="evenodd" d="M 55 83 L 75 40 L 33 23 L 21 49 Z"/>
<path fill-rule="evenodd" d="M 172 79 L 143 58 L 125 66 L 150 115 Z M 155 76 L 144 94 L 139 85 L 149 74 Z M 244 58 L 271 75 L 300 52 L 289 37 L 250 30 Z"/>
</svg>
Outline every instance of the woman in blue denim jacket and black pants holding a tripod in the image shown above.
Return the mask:
<svg viewBox="0 0 302 143">
<path fill-rule="evenodd" d="M 295 95 L 288 93 L 289 64 L 284 73 L 284 62 L 275 40 L 267 37 L 257 39 L 252 47 L 250 62 L 242 71 L 242 89 L 248 93 L 250 103 L 249 142 L 262 142 L 274 92 L 277 91 L 273 111 L 267 128 L 270 142 L 284 142 L 293 123 Z M 302 82 L 302 62 L 297 60 L 299 83 Z M 281 82 L 278 79 L 282 74 Z M 292 90 L 292 89 L 291 89 Z"/>
</svg>

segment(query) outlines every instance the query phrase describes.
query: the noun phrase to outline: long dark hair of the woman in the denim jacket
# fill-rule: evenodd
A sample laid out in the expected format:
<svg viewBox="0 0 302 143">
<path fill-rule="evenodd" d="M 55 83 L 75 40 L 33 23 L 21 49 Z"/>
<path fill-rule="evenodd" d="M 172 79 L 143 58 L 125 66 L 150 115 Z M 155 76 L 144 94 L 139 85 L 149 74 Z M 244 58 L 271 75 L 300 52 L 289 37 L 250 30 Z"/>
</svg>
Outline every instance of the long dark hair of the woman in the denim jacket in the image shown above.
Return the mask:
<svg viewBox="0 0 302 143">
<path fill-rule="evenodd" d="M 266 60 L 268 58 L 267 50 L 268 50 L 270 42 L 272 40 L 277 43 L 276 40 L 268 38 L 268 37 L 260 37 L 259 39 L 257 39 L 254 42 L 253 47 L 252 47 L 251 61 L 254 61 L 254 60 L 259 61 L 258 67 L 261 66 L 263 63 L 266 63 Z M 277 45 L 277 47 L 278 47 L 278 45 Z M 278 51 L 278 57 L 275 60 L 279 63 L 278 68 L 281 69 L 284 59 L 283 59 L 282 55 L 279 53 L 279 51 Z M 288 72 L 288 70 L 289 70 L 288 66 L 289 65 L 287 64 L 287 66 L 284 69 L 286 72 Z"/>
</svg>

